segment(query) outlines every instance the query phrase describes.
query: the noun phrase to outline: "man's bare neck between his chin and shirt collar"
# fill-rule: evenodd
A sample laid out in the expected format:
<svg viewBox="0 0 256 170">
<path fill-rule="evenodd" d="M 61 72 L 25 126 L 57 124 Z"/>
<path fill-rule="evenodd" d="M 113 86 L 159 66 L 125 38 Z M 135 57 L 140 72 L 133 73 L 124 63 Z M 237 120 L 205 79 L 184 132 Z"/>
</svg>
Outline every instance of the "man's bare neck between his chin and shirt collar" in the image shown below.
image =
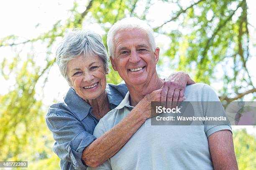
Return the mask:
<svg viewBox="0 0 256 170">
<path fill-rule="evenodd" d="M 164 80 L 158 77 L 157 74 L 151 77 L 148 82 L 141 85 L 127 85 L 130 92 L 130 104 L 136 106 L 145 95 L 153 92 L 154 90 L 160 89 L 164 85 Z"/>
</svg>

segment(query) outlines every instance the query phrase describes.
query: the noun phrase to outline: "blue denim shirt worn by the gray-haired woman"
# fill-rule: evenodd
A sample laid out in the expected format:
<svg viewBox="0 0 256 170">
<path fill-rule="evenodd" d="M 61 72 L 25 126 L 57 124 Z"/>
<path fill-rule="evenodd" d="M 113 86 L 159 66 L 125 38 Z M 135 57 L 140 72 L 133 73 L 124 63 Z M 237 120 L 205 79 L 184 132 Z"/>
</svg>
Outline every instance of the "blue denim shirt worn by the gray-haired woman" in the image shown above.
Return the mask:
<svg viewBox="0 0 256 170">
<path fill-rule="evenodd" d="M 117 107 L 128 89 L 125 84 L 106 85 L 111 109 Z M 77 95 L 73 88 L 64 100 L 49 107 L 46 124 L 55 140 L 53 150 L 61 159 L 61 170 L 85 170 L 82 152 L 96 138 L 92 135 L 99 120 L 92 115 L 92 107 Z"/>
</svg>

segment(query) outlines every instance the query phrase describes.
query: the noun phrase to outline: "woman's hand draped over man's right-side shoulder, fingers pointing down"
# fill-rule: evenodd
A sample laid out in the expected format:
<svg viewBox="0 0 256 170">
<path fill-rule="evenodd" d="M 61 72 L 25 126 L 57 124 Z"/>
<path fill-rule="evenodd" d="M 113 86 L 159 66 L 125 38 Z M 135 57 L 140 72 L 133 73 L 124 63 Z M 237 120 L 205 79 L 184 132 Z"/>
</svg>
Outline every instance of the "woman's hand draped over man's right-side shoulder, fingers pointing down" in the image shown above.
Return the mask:
<svg viewBox="0 0 256 170">
<path fill-rule="evenodd" d="M 185 88 L 187 85 L 195 84 L 184 71 L 173 72 L 164 82 L 161 91 L 161 102 L 167 102 L 167 107 L 173 108 L 185 100 Z M 154 100 L 152 100 L 154 101 Z"/>
</svg>

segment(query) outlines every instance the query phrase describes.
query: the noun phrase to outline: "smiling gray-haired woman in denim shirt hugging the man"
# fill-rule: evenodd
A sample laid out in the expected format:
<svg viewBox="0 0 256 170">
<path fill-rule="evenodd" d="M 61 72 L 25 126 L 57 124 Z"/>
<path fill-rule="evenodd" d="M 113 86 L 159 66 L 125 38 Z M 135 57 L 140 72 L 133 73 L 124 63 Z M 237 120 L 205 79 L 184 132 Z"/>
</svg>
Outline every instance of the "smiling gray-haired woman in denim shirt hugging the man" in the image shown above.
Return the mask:
<svg viewBox="0 0 256 170">
<path fill-rule="evenodd" d="M 61 159 L 62 170 L 97 167 L 108 160 L 151 117 L 151 101 L 182 101 L 184 87 L 194 83 L 184 72 L 171 75 L 180 85 L 166 82 L 162 93 L 144 97 L 118 125 L 96 139 L 92 133 L 100 118 L 117 107 L 128 92 L 125 84 L 106 82 L 108 54 L 100 35 L 69 33 L 57 49 L 56 62 L 70 89 L 63 101 L 49 107 L 46 123 L 56 141 L 53 150 Z"/>
</svg>

